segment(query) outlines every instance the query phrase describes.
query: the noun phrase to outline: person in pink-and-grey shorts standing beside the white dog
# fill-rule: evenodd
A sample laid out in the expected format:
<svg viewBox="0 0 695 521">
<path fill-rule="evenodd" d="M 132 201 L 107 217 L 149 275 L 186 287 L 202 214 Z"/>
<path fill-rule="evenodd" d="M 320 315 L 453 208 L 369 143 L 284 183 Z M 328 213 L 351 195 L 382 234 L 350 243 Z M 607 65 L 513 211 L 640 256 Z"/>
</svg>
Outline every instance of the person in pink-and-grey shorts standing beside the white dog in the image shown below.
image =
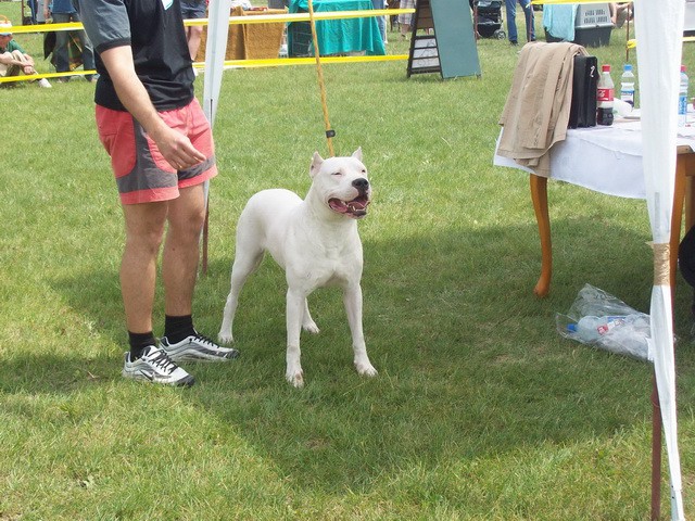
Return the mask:
<svg viewBox="0 0 695 521">
<path fill-rule="evenodd" d="M 179 0 L 80 0 L 79 8 L 100 74 L 97 127 L 125 218 L 121 291 L 130 351 L 123 376 L 191 385 L 193 377 L 178 363 L 226 361 L 239 352 L 193 327 L 203 186 L 217 166 L 193 92 Z M 164 336 L 156 342 L 152 308 L 163 239 Z"/>
</svg>

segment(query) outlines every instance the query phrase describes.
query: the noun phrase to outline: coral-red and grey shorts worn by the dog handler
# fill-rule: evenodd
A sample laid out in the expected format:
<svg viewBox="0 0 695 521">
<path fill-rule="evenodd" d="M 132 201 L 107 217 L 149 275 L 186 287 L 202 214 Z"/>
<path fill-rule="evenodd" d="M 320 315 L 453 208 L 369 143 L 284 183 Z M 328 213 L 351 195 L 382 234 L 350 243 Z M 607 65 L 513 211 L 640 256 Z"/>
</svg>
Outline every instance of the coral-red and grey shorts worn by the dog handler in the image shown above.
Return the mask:
<svg viewBox="0 0 695 521">
<path fill-rule="evenodd" d="M 177 171 L 129 112 L 97 105 L 99 139 L 111 156 L 122 204 L 176 199 L 180 188 L 200 185 L 217 175 L 212 131 L 198 99 L 181 109 L 160 112 L 160 116 L 185 134 L 206 160 Z"/>
</svg>

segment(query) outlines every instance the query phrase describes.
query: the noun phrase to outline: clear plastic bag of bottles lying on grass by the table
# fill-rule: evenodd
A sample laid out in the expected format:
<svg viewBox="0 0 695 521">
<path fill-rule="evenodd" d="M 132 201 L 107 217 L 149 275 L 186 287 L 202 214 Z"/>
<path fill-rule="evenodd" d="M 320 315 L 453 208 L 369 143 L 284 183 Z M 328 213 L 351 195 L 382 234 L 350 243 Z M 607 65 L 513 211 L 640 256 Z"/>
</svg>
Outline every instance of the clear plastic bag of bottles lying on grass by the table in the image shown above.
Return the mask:
<svg viewBox="0 0 695 521">
<path fill-rule="evenodd" d="M 556 314 L 557 332 L 582 344 L 652 360 L 649 315 L 591 284 L 584 285 L 567 315 Z"/>
</svg>

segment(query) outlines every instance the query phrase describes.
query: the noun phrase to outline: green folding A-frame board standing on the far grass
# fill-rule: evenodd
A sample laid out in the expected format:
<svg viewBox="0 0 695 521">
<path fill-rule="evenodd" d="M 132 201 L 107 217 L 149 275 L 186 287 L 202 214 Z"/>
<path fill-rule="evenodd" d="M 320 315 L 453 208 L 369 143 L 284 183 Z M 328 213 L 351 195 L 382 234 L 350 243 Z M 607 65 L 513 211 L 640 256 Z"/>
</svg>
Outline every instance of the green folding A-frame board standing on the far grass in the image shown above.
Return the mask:
<svg viewBox="0 0 695 521">
<path fill-rule="evenodd" d="M 480 76 L 468 0 L 418 0 L 415 18 L 408 76 L 432 72 L 440 72 L 443 78 Z M 421 34 L 428 28 L 433 34 Z"/>
</svg>

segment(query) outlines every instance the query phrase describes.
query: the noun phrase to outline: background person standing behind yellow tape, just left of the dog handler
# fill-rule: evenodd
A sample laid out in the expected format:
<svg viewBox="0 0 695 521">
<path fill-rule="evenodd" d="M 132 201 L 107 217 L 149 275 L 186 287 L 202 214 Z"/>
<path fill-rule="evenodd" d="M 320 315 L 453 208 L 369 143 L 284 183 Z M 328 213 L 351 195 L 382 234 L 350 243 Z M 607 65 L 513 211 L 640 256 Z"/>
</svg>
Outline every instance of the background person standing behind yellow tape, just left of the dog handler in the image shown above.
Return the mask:
<svg viewBox="0 0 695 521">
<path fill-rule="evenodd" d="M 43 17 L 46 20 L 52 18 L 54 24 L 65 24 L 68 22 L 81 22 L 79 14 L 73 4 L 73 0 L 53 0 L 52 4 L 46 0 L 43 3 Z M 79 42 L 79 47 L 83 52 L 83 66 L 85 71 L 94 69 L 94 51 L 92 49 L 91 41 L 87 38 L 84 30 L 58 30 L 55 31 L 55 72 L 68 73 L 70 68 L 70 38 L 75 37 Z M 96 81 L 93 75 L 88 74 L 85 76 L 87 81 Z M 58 78 L 59 82 L 68 81 L 70 77 Z"/>
</svg>

